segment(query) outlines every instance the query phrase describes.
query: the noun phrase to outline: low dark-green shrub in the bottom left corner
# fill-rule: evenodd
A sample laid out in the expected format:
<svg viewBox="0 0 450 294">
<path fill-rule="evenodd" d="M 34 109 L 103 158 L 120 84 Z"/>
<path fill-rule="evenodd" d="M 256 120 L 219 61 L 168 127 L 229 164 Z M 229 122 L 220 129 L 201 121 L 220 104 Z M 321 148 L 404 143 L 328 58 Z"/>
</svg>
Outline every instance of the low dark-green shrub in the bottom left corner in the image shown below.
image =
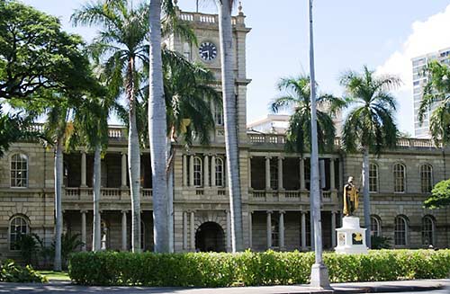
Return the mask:
<svg viewBox="0 0 450 294">
<path fill-rule="evenodd" d="M 34 272 L 30 265 L 25 267 L 6 260 L 0 264 L 0 281 L 7 282 L 47 282 L 47 278 Z"/>
</svg>

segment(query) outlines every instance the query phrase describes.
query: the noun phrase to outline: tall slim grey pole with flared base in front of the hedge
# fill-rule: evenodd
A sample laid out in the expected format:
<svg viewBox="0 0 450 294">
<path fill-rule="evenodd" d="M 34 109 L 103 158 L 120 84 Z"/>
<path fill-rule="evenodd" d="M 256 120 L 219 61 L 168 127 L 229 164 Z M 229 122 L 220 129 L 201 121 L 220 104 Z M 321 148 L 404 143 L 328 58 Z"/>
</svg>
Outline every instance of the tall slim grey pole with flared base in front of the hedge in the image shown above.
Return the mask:
<svg viewBox="0 0 450 294">
<path fill-rule="evenodd" d="M 311 71 L 311 212 L 314 220 L 315 263 L 311 267 L 311 287 L 329 288 L 329 275 L 322 262 L 322 226 L 320 220 L 319 148 L 317 138 L 316 76 L 314 70 L 314 39 L 312 26 L 312 0 L 310 12 L 310 71 Z"/>
</svg>

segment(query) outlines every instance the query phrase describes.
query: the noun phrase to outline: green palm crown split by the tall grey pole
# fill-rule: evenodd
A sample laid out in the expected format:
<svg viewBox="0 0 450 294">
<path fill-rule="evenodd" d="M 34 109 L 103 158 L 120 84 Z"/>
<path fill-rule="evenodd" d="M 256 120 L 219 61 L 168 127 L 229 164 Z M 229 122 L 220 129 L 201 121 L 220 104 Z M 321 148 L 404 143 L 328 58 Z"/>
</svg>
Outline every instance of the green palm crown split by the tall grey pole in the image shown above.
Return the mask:
<svg viewBox="0 0 450 294">
<path fill-rule="evenodd" d="M 274 113 L 293 111 L 286 133 L 288 151 L 303 154 L 311 150 L 311 79 L 309 76 L 282 78 L 277 88 L 282 94 L 270 104 Z M 317 113 L 317 138 L 320 152 L 334 147 L 336 128 L 331 117 L 335 111 L 344 106 L 342 99 L 331 94 L 320 94 L 316 98 L 319 109 Z"/>
</svg>

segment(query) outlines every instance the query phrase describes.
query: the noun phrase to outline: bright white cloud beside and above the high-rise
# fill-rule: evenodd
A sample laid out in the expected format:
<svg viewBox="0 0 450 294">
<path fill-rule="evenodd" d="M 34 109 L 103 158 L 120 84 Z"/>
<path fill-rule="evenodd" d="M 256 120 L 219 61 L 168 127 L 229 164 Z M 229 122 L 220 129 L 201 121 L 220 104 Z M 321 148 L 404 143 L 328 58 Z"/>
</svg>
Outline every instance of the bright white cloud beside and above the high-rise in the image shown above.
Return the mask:
<svg viewBox="0 0 450 294">
<path fill-rule="evenodd" d="M 394 92 L 400 106 L 397 120 L 400 129 L 410 134 L 414 134 L 411 58 L 450 47 L 448 28 L 450 28 L 450 5 L 444 12 L 434 14 L 426 21 L 414 22 L 412 32 L 402 48 L 394 52 L 383 66 L 377 68 L 377 73 L 401 77 L 403 85 Z"/>
</svg>

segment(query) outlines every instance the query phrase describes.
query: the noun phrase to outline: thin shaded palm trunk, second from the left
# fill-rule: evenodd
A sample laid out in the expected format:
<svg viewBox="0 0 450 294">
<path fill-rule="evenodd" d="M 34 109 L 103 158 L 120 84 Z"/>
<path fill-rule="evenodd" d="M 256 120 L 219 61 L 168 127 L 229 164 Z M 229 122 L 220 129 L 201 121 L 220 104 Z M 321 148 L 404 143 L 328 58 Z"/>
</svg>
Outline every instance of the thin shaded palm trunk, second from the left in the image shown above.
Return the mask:
<svg viewBox="0 0 450 294">
<path fill-rule="evenodd" d="M 102 185 L 102 158 L 100 154 L 102 152 L 102 147 L 100 144 L 95 146 L 94 151 L 94 227 L 92 236 L 92 250 L 99 251 L 101 249 L 101 239 L 102 239 L 102 226 L 100 217 L 100 198 Z"/>
</svg>

